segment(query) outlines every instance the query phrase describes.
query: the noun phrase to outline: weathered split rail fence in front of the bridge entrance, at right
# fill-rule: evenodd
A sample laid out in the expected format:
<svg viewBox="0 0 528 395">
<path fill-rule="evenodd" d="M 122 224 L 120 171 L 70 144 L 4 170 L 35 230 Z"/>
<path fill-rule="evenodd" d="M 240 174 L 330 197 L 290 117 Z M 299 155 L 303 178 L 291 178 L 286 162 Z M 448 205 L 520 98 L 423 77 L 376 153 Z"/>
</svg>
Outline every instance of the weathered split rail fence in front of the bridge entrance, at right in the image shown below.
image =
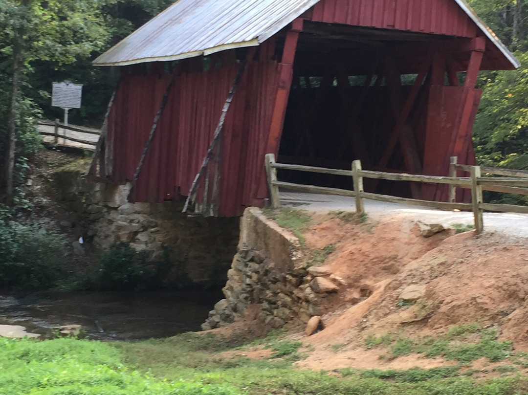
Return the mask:
<svg viewBox="0 0 528 395">
<path fill-rule="evenodd" d="M 483 202 L 483 190 L 528 195 L 527 171 L 509 170 L 495 167 L 461 165 L 457 163 L 457 157 L 455 156 L 451 157 L 449 176 L 446 177 L 362 170 L 361 161 L 359 160 L 352 162 L 352 170 L 339 170 L 325 167 L 284 164 L 277 163 L 275 161 L 274 154 L 266 155 L 265 165 L 272 208 L 280 207 L 279 188 L 282 187 L 285 189 L 301 192 L 351 196 L 355 198 L 356 212 L 358 214 L 362 214 L 365 212 L 363 199 L 371 199 L 391 203 L 411 204 L 441 210 L 472 210 L 474 213 L 475 230 L 477 233 L 481 233 L 484 229 L 484 210 L 498 212 L 528 213 L 528 206 L 520 206 L 513 204 L 491 204 Z M 324 186 L 282 182 L 279 181 L 277 178 L 277 169 L 351 176 L 353 178 L 354 189 L 351 191 Z M 469 173 L 469 177 L 458 177 L 457 172 Z M 486 176 L 483 176 L 483 174 L 485 174 Z M 502 177 L 487 176 L 488 174 L 499 175 Z M 363 190 L 364 178 L 374 178 L 376 180 L 390 181 L 412 181 L 428 184 L 448 184 L 449 201 L 433 202 L 428 200 L 401 198 L 399 196 L 365 192 Z M 472 202 L 456 202 L 455 200 L 457 188 L 470 189 Z"/>
</svg>

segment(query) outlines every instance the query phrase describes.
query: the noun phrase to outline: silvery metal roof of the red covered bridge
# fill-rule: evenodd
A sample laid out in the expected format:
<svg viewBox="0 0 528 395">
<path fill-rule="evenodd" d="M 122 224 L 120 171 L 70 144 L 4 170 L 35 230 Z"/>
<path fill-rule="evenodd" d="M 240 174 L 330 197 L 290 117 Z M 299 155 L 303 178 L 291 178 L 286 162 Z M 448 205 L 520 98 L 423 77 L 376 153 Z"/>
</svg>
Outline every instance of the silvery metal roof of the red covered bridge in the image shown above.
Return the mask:
<svg viewBox="0 0 528 395">
<path fill-rule="evenodd" d="M 349 0 L 353 1 L 353 0 Z M 179 0 L 100 55 L 96 65 L 127 65 L 256 46 L 319 0 Z M 465 0 L 455 0 L 515 67 L 520 63 Z"/>
</svg>

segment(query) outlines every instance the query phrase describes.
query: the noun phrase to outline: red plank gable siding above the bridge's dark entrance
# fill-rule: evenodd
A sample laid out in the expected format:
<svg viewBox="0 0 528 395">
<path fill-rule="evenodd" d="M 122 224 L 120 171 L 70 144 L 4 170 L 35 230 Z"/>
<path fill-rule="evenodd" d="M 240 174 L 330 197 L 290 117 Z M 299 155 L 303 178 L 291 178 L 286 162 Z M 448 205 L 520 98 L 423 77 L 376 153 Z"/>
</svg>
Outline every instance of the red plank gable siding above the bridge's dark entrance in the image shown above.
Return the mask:
<svg viewBox="0 0 528 395">
<path fill-rule="evenodd" d="M 321 0 L 311 20 L 460 37 L 477 32 L 454 0 Z"/>
</svg>

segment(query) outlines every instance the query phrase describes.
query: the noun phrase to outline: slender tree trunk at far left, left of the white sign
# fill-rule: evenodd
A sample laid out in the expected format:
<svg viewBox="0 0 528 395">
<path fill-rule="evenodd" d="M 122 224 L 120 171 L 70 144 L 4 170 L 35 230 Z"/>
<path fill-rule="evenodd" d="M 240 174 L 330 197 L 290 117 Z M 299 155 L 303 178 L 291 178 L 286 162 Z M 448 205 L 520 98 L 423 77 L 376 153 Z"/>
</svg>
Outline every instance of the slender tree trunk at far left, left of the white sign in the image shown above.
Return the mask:
<svg viewBox="0 0 528 395">
<path fill-rule="evenodd" d="M 16 101 L 18 99 L 18 86 L 20 83 L 22 53 L 20 46 L 15 46 L 13 54 L 13 82 L 11 89 L 11 103 L 7 115 L 7 157 L 5 165 L 6 191 L 5 199 L 9 205 L 13 204 L 13 171 L 15 168 L 15 145 L 16 145 Z"/>
</svg>

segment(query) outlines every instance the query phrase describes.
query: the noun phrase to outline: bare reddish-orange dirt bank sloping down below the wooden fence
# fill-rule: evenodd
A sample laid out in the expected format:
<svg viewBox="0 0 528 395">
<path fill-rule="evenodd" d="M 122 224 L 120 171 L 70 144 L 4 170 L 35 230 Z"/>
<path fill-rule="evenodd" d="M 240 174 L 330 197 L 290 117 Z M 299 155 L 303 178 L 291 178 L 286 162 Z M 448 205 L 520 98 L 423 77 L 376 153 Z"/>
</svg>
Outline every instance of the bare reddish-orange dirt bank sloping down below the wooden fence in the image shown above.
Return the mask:
<svg viewBox="0 0 528 395">
<path fill-rule="evenodd" d="M 384 362 L 373 350 L 365 354 L 362 347 L 367 336 L 439 336 L 454 325 L 474 323 L 494 325 L 499 341 L 513 341 L 516 350 L 528 350 L 525 243 L 499 234 L 454 233 L 425 238 L 416 223 L 401 219 L 362 224 L 332 215 L 321 218 L 306 233 L 307 245 L 320 249 L 333 243 L 335 252 L 325 267 L 344 278 L 347 286 L 325 306 L 325 330 L 304 338 L 316 351 L 299 366 L 445 365 L 441 359 L 431 362 L 419 355 L 406 356 L 412 361 L 405 363 L 403 357 L 400 362 Z M 423 295 L 402 300 L 402 291 L 410 285 L 423 286 Z M 339 353 L 329 351 L 338 346 Z"/>
</svg>

